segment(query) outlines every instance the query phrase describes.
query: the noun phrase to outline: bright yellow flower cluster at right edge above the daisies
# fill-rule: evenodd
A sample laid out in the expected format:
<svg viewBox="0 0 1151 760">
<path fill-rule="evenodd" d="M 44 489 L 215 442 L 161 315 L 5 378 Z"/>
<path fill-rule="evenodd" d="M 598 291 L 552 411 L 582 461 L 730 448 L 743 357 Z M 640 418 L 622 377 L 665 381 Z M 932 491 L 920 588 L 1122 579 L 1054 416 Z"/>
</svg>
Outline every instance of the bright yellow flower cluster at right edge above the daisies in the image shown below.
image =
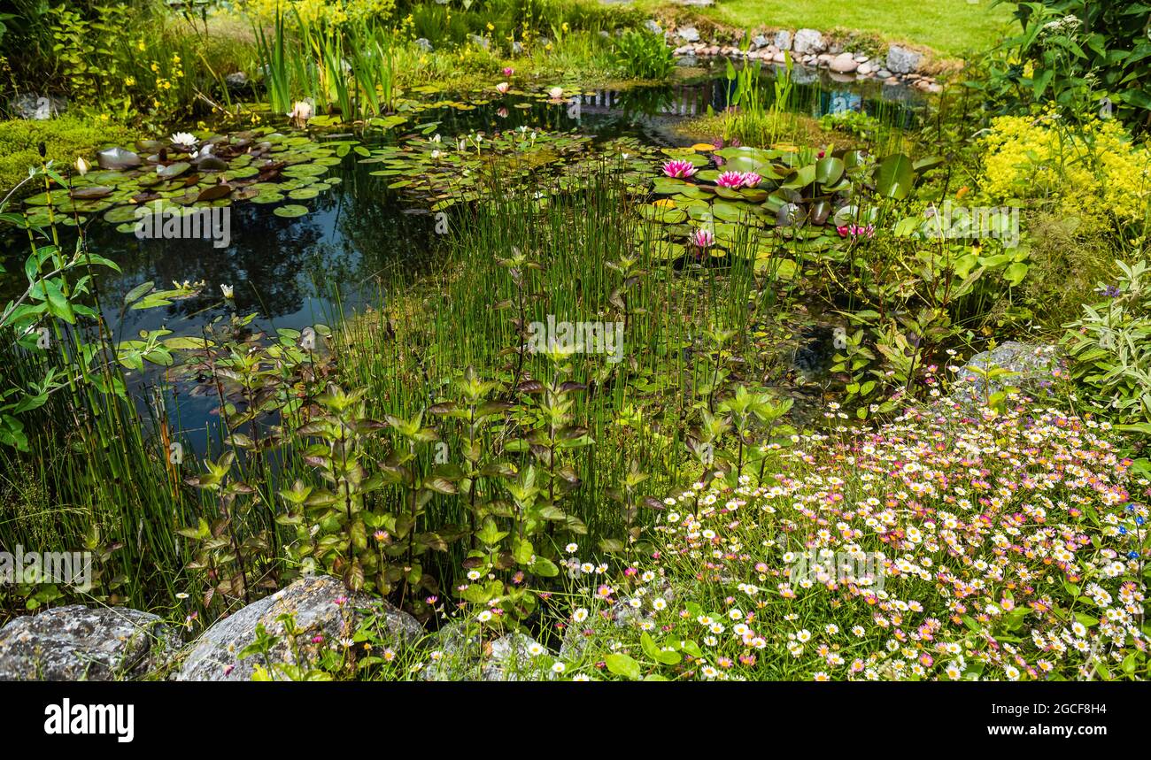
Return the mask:
<svg viewBox="0 0 1151 760">
<path fill-rule="evenodd" d="M 1050 198 L 1088 225 L 1138 222 L 1151 210 L 1151 149 L 1115 120 L 1082 126 L 1057 114 L 1001 116 L 984 138 L 983 190 L 997 200 Z"/>
</svg>

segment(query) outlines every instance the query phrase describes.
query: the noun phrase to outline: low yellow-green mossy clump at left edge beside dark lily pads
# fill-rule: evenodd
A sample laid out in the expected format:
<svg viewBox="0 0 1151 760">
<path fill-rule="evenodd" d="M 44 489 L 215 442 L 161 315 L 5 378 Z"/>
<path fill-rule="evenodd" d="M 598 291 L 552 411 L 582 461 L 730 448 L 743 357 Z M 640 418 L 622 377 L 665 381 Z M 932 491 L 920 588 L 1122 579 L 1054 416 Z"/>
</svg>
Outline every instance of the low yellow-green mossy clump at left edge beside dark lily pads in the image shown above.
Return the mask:
<svg viewBox="0 0 1151 760">
<path fill-rule="evenodd" d="M 134 138 L 125 126 L 99 118 L 64 115 L 45 121 L 0 121 L 0 191 L 7 193 L 28 176 L 30 167 L 40 166 L 40 143 L 45 160 L 67 166 L 77 156 L 94 163 L 100 148 Z"/>
</svg>

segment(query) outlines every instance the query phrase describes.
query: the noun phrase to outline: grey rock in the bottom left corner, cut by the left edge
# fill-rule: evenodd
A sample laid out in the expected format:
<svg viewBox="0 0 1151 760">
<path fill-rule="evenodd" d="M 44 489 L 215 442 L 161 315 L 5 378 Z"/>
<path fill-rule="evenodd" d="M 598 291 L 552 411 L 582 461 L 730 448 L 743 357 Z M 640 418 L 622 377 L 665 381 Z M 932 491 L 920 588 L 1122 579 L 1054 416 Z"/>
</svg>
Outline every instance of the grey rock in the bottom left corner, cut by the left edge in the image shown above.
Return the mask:
<svg viewBox="0 0 1151 760">
<path fill-rule="evenodd" d="M 119 681 L 161 668 L 180 645 L 157 615 L 68 605 L 0 629 L 0 681 Z"/>
</svg>

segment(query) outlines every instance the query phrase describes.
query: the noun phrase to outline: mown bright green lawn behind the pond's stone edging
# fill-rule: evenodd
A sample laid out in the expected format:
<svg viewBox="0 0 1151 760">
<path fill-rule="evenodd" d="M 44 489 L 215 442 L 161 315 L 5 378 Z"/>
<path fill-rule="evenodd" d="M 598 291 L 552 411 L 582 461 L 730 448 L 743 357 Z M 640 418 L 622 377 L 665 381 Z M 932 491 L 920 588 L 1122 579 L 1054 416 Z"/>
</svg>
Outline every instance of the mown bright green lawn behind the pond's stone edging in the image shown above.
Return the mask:
<svg viewBox="0 0 1151 760">
<path fill-rule="evenodd" d="M 662 0 L 640 0 L 639 5 L 646 10 L 668 8 Z M 990 0 L 731 0 L 704 8 L 700 15 L 716 23 L 740 28 L 828 31 L 841 26 L 876 32 L 891 40 L 927 45 L 951 56 L 986 49 L 998 41 L 1003 28 L 1012 22 L 1008 8 L 992 8 Z"/>
</svg>

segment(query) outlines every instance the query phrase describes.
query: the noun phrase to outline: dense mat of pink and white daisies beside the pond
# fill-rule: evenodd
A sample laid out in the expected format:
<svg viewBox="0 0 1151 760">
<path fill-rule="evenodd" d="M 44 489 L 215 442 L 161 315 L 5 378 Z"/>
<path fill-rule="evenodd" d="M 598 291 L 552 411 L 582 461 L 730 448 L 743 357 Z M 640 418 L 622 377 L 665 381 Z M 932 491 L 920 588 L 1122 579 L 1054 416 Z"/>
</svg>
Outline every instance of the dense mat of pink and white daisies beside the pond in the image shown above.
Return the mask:
<svg viewBox="0 0 1151 760">
<path fill-rule="evenodd" d="M 1106 423 L 945 402 L 791 443 L 757 483 L 717 476 L 669 497 L 618 571 L 570 544 L 569 592 L 546 596 L 559 654 L 536 645 L 525 665 L 574 680 L 816 681 L 1145 667 L 1149 482 Z M 813 551 L 876 556 L 882 571 L 795 573 Z M 500 617 L 473 620 L 482 634 Z"/>
</svg>

